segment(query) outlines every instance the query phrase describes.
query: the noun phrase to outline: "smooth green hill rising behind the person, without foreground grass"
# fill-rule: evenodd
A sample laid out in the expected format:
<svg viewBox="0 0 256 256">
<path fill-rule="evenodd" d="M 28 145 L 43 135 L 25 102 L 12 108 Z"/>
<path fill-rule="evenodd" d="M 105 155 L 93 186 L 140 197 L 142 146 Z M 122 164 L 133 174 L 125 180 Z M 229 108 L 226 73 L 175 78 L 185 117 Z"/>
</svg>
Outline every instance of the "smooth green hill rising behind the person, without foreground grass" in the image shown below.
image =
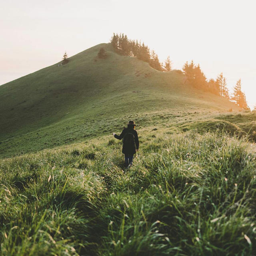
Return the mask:
<svg viewBox="0 0 256 256">
<path fill-rule="evenodd" d="M 101 47 L 106 59 L 97 57 Z M 159 72 L 116 54 L 110 44 L 58 64 L 0 86 L 1 156 L 110 134 L 130 118 L 143 127 L 162 122 L 163 116 L 176 124 L 239 110 L 219 96 L 184 85 L 180 71 Z"/>
</svg>

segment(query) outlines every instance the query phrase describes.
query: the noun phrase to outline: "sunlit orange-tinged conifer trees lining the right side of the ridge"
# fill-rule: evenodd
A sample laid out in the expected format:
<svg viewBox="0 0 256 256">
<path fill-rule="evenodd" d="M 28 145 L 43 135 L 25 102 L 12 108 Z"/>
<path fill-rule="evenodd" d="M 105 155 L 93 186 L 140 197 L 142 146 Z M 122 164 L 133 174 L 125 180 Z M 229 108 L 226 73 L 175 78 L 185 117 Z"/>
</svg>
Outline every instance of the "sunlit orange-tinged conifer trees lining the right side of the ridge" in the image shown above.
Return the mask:
<svg viewBox="0 0 256 256">
<path fill-rule="evenodd" d="M 114 50 L 120 55 L 136 57 L 139 60 L 148 62 L 152 68 L 159 71 L 166 72 L 172 70 L 170 57 L 168 56 L 164 63 L 160 63 L 156 52 L 154 50 L 150 50 L 144 42 L 141 44 L 138 40 L 128 39 L 124 34 L 115 33 L 113 34 L 110 42 L 114 47 Z M 227 88 L 226 78 L 222 73 L 218 75 L 215 80 L 213 78 L 207 80 L 199 64 L 195 65 L 193 60 L 190 64 L 186 62 L 183 65 L 182 71 L 185 76 L 184 83 L 190 84 L 200 90 L 222 96 L 236 103 L 241 108 L 248 109 L 246 96 L 241 89 L 241 79 L 236 82 L 234 92 L 230 94 Z"/>
</svg>

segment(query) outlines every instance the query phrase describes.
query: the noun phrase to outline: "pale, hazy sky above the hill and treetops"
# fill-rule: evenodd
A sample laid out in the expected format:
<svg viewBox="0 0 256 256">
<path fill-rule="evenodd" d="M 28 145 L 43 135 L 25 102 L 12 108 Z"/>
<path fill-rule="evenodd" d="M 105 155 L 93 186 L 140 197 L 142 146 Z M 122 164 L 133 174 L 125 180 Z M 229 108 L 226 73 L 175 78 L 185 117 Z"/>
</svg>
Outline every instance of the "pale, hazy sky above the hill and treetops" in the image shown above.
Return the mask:
<svg viewBox="0 0 256 256">
<path fill-rule="evenodd" d="M 208 79 L 221 72 L 232 88 L 241 78 L 256 105 L 253 0 L 8 0 L 0 8 L 0 84 L 96 44 L 113 32 L 142 40 L 174 69 L 200 64 Z"/>
</svg>

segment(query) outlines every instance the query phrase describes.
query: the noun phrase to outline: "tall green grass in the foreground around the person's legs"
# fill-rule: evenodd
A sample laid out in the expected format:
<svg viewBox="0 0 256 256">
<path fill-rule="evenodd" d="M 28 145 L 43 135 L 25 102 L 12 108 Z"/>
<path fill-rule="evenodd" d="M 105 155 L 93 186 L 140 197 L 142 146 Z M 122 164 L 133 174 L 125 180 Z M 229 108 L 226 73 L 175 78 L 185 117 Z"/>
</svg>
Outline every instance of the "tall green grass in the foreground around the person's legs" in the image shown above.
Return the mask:
<svg viewBox="0 0 256 256">
<path fill-rule="evenodd" d="M 158 131 L 160 133 L 160 131 Z M 226 134 L 145 134 L 0 160 L 2 255 L 253 255 L 256 162 Z"/>
</svg>

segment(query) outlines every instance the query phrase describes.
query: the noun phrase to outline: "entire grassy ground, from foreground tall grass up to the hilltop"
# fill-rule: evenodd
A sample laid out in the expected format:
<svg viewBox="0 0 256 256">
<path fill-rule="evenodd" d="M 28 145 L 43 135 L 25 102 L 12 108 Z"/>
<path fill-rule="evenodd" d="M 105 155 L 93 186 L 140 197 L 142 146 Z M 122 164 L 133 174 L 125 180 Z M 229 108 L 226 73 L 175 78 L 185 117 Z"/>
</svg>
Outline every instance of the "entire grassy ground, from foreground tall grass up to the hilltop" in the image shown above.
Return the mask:
<svg viewBox="0 0 256 256">
<path fill-rule="evenodd" d="M 254 255 L 256 112 L 183 79 L 100 44 L 0 86 L 1 255 Z"/>
</svg>

